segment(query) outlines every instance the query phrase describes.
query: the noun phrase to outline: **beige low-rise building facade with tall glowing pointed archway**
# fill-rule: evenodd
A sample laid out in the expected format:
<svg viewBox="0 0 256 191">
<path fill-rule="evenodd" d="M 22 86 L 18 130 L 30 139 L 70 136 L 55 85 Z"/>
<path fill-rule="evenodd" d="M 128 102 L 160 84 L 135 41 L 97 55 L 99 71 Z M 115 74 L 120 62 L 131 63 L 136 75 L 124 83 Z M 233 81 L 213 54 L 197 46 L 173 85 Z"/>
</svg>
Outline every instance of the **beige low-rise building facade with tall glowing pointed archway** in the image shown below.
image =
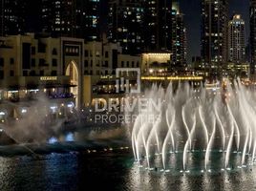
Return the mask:
<svg viewBox="0 0 256 191">
<path fill-rule="evenodd" d="M 36 38 L 32 33 L 0 37 L 0 90 L 4 99 L 26 99 L 36 90 L 54 101 L 68 98 L 77 108 L 88 106 L 88 97 L 97 93 L 94 86 L 106 88 L 111 82 L 115 88 L 118 67 L 139 68 L 140 56 L 122 54 L 114 43 L 85 43 L 81 38 Z M 109 75 L 111 80 L 101 77 Z"/>
</svg>

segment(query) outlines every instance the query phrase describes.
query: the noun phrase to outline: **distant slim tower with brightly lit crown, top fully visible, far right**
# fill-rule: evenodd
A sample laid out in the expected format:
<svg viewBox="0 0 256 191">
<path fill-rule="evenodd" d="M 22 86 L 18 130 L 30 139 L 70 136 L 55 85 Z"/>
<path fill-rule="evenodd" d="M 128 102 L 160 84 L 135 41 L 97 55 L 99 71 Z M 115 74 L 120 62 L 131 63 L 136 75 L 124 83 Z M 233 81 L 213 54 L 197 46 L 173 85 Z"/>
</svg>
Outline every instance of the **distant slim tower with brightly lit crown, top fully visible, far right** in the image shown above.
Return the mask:
<svg viewBox="0 0 256 191">
<path fill-rule="evenodd" d="M 228 22 L 228 60 L 245 62 L 245 21 L 240 14 L 235 14 Z"/>
</svg>

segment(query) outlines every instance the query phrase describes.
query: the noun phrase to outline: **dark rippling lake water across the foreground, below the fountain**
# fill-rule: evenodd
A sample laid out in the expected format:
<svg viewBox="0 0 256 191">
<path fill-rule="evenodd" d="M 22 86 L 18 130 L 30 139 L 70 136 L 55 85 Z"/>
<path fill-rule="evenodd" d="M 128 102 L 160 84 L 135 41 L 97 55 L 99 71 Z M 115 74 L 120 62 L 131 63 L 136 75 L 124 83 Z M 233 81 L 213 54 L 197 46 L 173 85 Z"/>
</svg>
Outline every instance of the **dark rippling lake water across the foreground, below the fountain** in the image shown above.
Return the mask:
<svg viewBox="0 0 256 191">
<path fill-rule="evenodd" d="M 148 171 L 130 153 L 0 158 L 0 190 L 255 190 L 256 168 L 201 175 Z"/>
</svg>

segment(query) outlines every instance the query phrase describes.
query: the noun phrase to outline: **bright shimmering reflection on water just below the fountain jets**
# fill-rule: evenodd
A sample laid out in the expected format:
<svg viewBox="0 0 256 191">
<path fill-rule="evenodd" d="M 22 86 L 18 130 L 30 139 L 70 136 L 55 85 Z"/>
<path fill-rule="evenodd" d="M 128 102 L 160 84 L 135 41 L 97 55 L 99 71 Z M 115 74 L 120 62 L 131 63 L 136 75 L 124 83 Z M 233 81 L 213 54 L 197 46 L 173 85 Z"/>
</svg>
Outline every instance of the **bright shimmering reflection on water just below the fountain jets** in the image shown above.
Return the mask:
<svg viewBox="0 0 256 191">
<path fill-rule="evenodd" d="M 132 190 L 255 190 L 255 167 L 230 171 L 200 173 L 160 172 L 134 164 L 129 170 L 127 184 Z"/>
</svg>

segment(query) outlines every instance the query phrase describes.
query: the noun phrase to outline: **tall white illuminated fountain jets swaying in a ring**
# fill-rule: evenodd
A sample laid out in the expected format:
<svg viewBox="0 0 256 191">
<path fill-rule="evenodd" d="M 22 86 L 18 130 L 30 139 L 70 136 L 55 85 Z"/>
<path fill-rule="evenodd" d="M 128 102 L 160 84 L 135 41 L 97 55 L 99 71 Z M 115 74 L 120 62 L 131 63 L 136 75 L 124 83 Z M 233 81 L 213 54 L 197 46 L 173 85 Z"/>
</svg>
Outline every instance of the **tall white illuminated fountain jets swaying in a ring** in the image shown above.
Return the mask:
<svg viewBox="0 0 256 191">
<path fill-rule="evenodd" d="M 172 83 L 153 85 L 132 131 L 140 167 L 161 171 L 212 172 L 251 165 L 256 150 L 256 96 L 239 80 L 216 90 Z M 151 101 L 149 101 L 151 102 Z M 154 120 L 145 118 L 154 116 Z"/>
</svg>

